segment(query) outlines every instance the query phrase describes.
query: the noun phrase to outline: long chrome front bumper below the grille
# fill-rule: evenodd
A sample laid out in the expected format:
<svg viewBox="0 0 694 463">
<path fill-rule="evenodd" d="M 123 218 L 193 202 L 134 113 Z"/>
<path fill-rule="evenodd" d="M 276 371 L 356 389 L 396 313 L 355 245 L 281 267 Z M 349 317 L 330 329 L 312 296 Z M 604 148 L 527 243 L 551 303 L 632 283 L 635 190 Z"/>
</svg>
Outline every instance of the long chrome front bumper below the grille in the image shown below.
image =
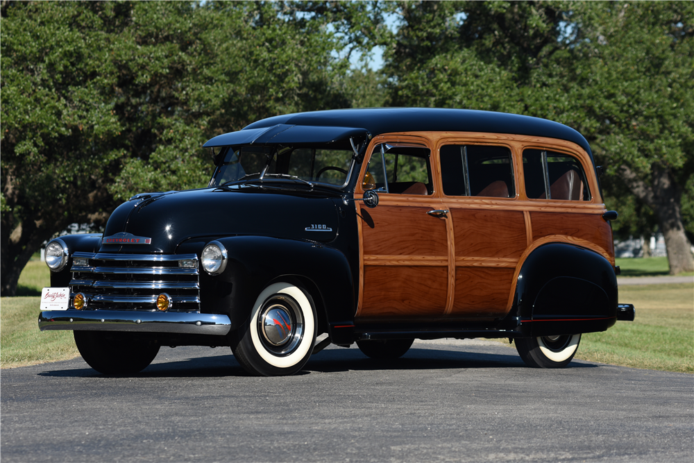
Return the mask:
<svg viewBox="0 0 694 463">
<path fill-rule="evenodd" d="M 40 312 L 39 329 L 176 332 L 223 336 L 231 329 L 231 321 L 226 315 L 197 312 L 70 309 Z"/>
</svg>

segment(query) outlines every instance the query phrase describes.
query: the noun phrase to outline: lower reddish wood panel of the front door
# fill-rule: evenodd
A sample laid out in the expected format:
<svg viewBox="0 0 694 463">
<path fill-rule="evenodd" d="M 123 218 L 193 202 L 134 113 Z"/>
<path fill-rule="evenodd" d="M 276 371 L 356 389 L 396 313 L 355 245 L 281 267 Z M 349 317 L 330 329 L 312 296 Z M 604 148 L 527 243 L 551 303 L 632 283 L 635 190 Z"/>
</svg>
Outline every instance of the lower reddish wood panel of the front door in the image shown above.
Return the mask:
<svg viewBox="0 0 694 463">
<path fill-rule="evenodd" d="M 447 267 L 364 266 L 364 298 L 357 319 L 399 321 L 440 317 L 446 310 Z"/>
</svg>

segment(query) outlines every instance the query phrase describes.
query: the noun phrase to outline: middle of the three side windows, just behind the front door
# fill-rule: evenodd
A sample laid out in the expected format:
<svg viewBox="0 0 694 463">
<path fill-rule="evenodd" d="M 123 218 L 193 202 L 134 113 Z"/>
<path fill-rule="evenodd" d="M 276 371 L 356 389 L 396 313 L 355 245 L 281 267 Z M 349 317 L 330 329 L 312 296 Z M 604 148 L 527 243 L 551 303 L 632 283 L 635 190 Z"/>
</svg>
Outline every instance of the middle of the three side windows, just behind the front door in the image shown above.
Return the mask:
<svg viewBox="0 0 694 463">
<path fill-rule="evenodd" d="M 441 181 L 446 196 L 516 196 L 511 151 L 505 146 L 441 146 Z"/>
</svg>

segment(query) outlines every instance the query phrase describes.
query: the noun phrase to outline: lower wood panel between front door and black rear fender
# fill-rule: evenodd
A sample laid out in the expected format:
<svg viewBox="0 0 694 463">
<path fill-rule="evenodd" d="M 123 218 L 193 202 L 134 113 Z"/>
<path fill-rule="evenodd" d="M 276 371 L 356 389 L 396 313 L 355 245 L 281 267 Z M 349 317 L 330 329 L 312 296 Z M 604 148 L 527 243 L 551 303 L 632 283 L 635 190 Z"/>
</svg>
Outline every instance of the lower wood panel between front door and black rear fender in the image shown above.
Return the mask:
<svg viewBox="0 0 694 463">
<path fill-rule="evenodd" d="M 515 269 L 458 268 L 455 302 L 450 311 L 457 318 L 496 318 L 508 312 L 507 301 Z"/>
</svg>

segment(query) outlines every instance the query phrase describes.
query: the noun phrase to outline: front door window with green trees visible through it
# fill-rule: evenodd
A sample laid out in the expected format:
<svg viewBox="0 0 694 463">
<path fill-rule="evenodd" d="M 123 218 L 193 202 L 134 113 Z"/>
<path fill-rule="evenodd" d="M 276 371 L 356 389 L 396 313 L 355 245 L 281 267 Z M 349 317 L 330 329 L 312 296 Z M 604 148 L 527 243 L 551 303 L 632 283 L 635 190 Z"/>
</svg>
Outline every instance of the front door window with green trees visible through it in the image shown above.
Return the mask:
<svg viewBox="0 0 694 463">
<path fill-rule="evenodd" d="M 430 151 L 420 146 L 376 145 L 362 183 L 364 190 L 432 194 Z"/>
</svg>

